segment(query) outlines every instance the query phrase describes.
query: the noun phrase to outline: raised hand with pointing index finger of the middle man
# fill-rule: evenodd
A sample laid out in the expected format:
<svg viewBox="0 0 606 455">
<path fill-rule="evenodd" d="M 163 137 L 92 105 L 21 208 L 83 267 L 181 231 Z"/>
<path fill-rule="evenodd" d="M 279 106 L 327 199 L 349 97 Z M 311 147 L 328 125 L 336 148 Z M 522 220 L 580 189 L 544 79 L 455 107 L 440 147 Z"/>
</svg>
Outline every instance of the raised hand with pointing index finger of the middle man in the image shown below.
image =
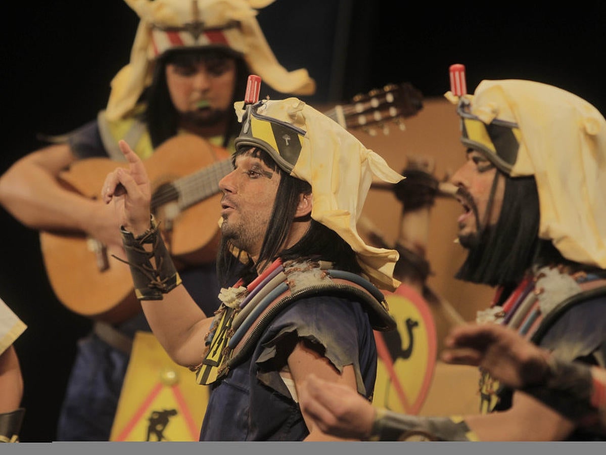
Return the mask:
<svg viewBox="0 0 606 455">
<path fill-rule="evenodd" d="M 138 236 L 150 228 L 151 187 L 141 159 L 125 141 L 120 150 L 128 168 L 117 168 L 107 174 L 102 190 L 105 204 L 113 201 L 121 225 Z"/>
</svg>

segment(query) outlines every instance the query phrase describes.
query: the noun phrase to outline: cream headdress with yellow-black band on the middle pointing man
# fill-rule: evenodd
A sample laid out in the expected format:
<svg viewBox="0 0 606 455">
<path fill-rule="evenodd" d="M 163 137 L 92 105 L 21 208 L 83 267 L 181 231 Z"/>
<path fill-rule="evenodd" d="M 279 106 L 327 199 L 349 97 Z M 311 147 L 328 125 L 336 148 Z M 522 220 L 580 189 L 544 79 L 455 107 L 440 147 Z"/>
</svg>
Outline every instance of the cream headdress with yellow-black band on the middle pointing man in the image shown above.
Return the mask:
<svg viewBox="0 0 606 455">
<path fill-rule="evenodd" d="M 237 102 L 235 109 L 242 122 L 236 148 L 260 147 L 291 176 L 308 182 L 311 218 L 353 248 L 376 286 L 390 291 L 398 287 L 393 278 L 398 252 L 366 245 L 356 222 L 373 175 L 390 183 L 403 177 L 341 125 L 298 98 L 259 101 L 246 109 L 244 102 Z"/>
</svg>

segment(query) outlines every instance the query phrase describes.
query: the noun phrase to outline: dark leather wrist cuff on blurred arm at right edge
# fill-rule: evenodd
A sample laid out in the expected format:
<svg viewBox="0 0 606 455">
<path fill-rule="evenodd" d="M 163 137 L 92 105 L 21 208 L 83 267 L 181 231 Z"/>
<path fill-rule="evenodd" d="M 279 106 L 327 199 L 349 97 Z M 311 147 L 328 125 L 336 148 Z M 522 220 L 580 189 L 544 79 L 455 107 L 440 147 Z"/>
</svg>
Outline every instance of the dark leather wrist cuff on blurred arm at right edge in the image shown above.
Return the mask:
<svg viewBox="0 0 606 455">
<path fill-rule="evenodd" d="M 544 385 L 532 385 L 521 391 L 538 399 L 582 427 L 600 425 L 606 408 L 606 385 L 600 371 L 591 365 L 565 362 L 555 356 L 548 360 Z"/>
</svg>

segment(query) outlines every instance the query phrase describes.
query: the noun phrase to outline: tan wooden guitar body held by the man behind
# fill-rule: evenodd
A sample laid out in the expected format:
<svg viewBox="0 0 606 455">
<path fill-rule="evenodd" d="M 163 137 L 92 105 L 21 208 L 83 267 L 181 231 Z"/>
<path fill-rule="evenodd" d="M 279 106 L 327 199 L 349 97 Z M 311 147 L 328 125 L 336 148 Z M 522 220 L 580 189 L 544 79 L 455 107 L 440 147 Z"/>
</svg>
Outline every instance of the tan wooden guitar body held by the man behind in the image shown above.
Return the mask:
<svg viewBox="0 0 606 455">
<path fill-rule="evenodd" d="M 210 196 L 190 205 L 187 210 L 178 211 L 174 218 L 168 213 L 175 211 L 176 199 L 170 200 L 165 194 L 158 193 L 166 184 L 220 160 L 228 161 L 229 156 L 227 150 L 213 147 L 198 136 L 182 135 L 164 142 L 144 161 L 151 182 L 152 201 L 160 201 L 158 204 L 153 202 L 155 217 L 161 223 L 162 235 L 178 267 L 215 259 L 221 214 L 221 193 L 216 182 L 226 172 L 211 176 L 210 190 L 206 189 Z M 127 167 L 128 164 L 108 158 L 82 159 L 62 173 L 61 180 L 73 191 L 96 199 L 107 174 L 119 166 Z M 205 179 L 198 179 L 197 183 L 201 180 Z M 191 186 L 191 182 L 188 185 Z M 169 225 L 170 230 L 167 230 Z M 111 256 L 124 257 L 121 251 L 107 251 L 94 239 L 73 233 L 42 231 L 40 244 L 48 279 L 65 307 L 110 323 L 140 311 L 130 268 Z"/>
</svg>

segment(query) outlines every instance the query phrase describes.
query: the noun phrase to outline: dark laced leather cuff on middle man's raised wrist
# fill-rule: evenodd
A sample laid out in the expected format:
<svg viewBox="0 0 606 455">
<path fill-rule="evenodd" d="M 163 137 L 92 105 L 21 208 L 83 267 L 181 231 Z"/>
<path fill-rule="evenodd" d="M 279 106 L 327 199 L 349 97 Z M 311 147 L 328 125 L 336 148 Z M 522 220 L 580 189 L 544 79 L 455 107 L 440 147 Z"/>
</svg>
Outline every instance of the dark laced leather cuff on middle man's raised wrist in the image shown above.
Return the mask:
<svg viewBox="0 0 606 455">
<path fill-rule="evenodd" d="M 181 277 L 168 254 L 153 216 L 151 227 L 140 236 L 133 236 L 124 227 L 120 228 L 120 232 L 128 260 L 114 257 L 130 265 L 135 294 L 139 300 L 162 300 L 162 294 L 181 284 Z M 151 245 L 151 251 L 147 251 L 145 245 Z"/>
</svg>

